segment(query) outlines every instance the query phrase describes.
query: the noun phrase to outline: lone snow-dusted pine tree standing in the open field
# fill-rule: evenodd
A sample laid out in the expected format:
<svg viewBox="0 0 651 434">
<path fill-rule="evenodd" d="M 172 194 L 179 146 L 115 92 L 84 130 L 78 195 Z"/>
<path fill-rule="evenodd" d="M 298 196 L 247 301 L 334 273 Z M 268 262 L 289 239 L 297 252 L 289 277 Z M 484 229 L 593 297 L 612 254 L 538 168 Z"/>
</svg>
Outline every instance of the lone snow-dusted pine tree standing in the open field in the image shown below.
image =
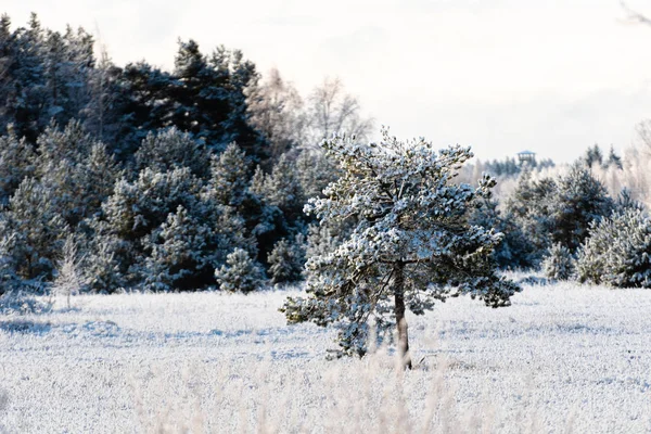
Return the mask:
<svg viewBox="0 0 651 434">
<path fill-rule="evenodd" d="M 289 322 L 340 328 L 341 354 L 366 353 L 371 320 L 376 336 L 397 327 L 398 350 L 411 367 L 405 311 L 431 310 L 436 301 L 470 294 L 487 306 L 508 306 L 519 286 L 496 275 L 492 257 L 501 234 L 468 222 L 490 195 L 452 178 L 472 157 L 459 145 L 435 152 L 423 139 L 400 142 L 383 131 L 379 144 L 335 137 L 322 143 L 341 178 L 310 199 L 305 210 L 321 225 L 353 225 L 336 250 L 308 258 L 308 296 L 290 297 Z"/>
</svg>

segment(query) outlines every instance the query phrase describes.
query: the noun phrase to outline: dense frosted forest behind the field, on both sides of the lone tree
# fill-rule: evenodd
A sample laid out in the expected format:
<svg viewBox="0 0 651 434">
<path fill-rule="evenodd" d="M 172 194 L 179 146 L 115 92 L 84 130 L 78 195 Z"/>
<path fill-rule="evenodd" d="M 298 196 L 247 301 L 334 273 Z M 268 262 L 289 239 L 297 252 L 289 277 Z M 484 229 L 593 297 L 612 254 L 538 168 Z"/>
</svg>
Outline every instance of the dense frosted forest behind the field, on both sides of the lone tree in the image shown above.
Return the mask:
<svg viewBox="0 0 651 434">
<path fill-rule="evenodd" d="M 339 176 L 319 143 L 366 141 L 372 128 L 335 79 L 304 98 L 278 71 L 263 79 L 242 52 L 205 54 L 193 40 L 179 40 L 173 71 L 120 67 L 82 28 L 53 31 L 34 14 L 12 29 L 3 15 L 0 292 L 247 292 L 299 281 L 306 258 L 350 230 L 303 213 Z M 540 175 L 553 166 L 465 168 L 469 180 L 483 168 L 513 182 L 463 217 L 503 233 L 494 260 L 651 285 L 644 207 L 597 174 L 625 173 L 626 158 L 590 148 L 566 173 Z"/>
</svg>

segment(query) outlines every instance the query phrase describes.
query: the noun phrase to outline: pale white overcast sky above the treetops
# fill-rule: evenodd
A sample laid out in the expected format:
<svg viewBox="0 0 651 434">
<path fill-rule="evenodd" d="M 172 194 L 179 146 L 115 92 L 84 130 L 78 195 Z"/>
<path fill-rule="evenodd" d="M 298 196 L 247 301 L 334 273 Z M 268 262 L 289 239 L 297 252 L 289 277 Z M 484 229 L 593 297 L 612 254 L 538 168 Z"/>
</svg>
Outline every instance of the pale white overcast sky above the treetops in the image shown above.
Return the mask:
<svg viewBox="0 0 651 434">
<path fill-rule="evenodd" d="M 651 14 L 651 0 L 629 7 Z M 339 76 L 398 137 L 525 149 L 570 162 L 593 143 L 627 146 L 651 117 L 651 26 L 617 0 L 9 0 L 15 26 L 39 14 L 101 31 L 118 64 L 170 67 L 176 40 L 238 48 L 304 93 Z"/>
</svg>

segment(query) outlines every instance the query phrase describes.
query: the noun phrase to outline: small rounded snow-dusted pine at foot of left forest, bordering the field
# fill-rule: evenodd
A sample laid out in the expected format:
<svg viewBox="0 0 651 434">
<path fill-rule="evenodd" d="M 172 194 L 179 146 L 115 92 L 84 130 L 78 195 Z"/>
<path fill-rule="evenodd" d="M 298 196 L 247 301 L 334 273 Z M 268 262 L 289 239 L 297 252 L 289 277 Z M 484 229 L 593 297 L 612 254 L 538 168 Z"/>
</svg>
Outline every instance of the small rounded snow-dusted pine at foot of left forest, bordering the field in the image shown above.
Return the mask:
<svg viewBox="0 0 651 434">
<path fill-rule="evenodd" d="M 226 264 L 215 270 L 215 278 L 221 291 L 248 293 L 264 284 L 263 268 L 243 248 L 233 250 Z"/>
</svg>

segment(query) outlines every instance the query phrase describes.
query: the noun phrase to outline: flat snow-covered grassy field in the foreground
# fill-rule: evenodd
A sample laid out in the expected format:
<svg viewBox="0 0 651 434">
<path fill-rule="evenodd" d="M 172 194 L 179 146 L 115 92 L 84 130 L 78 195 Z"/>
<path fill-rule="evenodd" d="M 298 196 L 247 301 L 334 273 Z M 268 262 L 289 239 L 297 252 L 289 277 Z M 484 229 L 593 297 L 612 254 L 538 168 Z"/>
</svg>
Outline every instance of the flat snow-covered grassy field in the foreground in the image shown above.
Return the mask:
<svg viewBox="0 0 651 434">
<path fill-rule="evenodd" d="M 288 292 L 78 296 L 0 317 L 0 432 L 651 433 L 651 291 L 525 286 L 408 317 L 413 371 L 324 360 Z"/>
</svg>

